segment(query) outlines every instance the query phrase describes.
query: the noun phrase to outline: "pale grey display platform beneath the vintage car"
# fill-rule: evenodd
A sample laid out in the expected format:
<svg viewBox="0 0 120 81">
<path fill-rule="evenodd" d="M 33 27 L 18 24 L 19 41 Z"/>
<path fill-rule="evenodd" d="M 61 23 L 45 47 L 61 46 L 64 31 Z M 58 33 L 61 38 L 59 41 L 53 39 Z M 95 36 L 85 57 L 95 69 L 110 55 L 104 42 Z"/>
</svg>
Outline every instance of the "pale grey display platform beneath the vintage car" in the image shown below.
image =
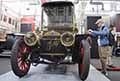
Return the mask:
<svg viewBox="0 0 120 81">
<path fill-rule="evenodd" d="M 0 75 L 0 81 L 81 81 L 78 76 L 77 65 L 68 65 L 64 74 L 46 72 L 47 65 L 39 64 L 37 67 L 31 67 L 29 73 L 18 78 L 12 71 Z M 7 78 L 6 78 L 7 77 Z M 86 81 L 110 81 L 103 74 L 90 66 L 90 73 Z"/>
</svg>

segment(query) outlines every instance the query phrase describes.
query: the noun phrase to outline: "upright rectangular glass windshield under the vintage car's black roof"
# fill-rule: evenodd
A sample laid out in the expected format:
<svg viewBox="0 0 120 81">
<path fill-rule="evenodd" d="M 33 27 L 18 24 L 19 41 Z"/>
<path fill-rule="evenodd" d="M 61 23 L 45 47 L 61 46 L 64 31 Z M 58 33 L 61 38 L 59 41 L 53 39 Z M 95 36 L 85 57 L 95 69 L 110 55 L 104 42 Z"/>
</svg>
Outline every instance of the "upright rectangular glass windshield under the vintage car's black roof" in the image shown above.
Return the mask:
<svg viewBox="0 0 120 81">
<path fill-rule="evenodd" d="M 43 8 L 44 26 L 71 26 L 73 23 L 73 6 L 47 6 Z"/>
</svg>

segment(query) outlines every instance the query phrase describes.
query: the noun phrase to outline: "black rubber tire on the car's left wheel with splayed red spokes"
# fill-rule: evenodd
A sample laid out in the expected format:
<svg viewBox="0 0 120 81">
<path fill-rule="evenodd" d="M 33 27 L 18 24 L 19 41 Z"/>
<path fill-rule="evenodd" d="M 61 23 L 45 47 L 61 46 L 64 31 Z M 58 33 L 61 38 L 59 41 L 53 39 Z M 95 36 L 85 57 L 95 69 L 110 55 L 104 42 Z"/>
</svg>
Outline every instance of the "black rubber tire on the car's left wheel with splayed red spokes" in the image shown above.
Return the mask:
<svg viewBox="0 0 120 81">
<path fill-rule="evenodd" d="M 15 73 L 15 75 L 17 75 L 18 77 L 23 77 L 25 76 L 29 69 L 30 69 L 30 65 L 31 63 L 28 64 L 28 69 L 26 70 L 26 72 L 23 72 L 19 69 L 19 66 L 18 66 L 18 62 L 17 62 L 17 55 L 18 55 L 18 49 L 19 49 L 19 46 L 20 44 L 23 43 L 23 40 L 21 39 L 17 39 L 15 44 L 13 45 L 13 48 L 12 48 L 12 55 L 11 55 L 11 68 L 13 70 L 13 72 Z"/>
</svg>

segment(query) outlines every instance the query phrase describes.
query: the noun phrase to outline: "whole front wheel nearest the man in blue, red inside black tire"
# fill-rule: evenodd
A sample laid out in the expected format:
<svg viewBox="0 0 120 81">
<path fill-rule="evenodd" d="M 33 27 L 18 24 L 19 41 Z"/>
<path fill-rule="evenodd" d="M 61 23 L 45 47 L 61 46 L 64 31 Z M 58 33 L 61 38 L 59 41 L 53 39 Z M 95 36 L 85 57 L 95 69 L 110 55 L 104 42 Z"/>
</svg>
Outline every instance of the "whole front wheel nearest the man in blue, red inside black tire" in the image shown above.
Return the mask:
<svg viewBox="0 0 120 81">
<path fill-rule="evenodd" d="M 90 68 L 90 46 L 88 41 L 82 40 L 80 44 L 81 63 L 78 63 L 79 77 L 81 80 L 86 80 Z"/>
</svg>

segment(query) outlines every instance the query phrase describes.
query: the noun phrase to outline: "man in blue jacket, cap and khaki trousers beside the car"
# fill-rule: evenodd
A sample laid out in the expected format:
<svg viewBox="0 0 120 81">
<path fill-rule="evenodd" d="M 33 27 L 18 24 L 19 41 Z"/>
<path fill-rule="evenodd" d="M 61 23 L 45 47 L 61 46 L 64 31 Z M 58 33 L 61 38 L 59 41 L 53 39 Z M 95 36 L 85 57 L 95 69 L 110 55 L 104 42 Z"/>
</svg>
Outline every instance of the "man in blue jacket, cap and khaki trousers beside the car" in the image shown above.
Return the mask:
<svg viewBox="0 0 120 81">
<path fill-rule="evenodd" d="M 98 42 L 100 62 L 102 66 L 102 73 L 104 75 L 107 75 L 106 62 L 107 62 L 107 57 L 110 53 L 109 40 L 107 38 L 107 35 L 109 34 L 109 29 L 107 26 L 105 26 L 102 19 L 98 19 L 95 24 L 97 25 L 99 31 L 89 29 L 88 34 L 92 35 L 93 37 L 96 36 L 98 37 L 97 42 Z"/>
</svg>

